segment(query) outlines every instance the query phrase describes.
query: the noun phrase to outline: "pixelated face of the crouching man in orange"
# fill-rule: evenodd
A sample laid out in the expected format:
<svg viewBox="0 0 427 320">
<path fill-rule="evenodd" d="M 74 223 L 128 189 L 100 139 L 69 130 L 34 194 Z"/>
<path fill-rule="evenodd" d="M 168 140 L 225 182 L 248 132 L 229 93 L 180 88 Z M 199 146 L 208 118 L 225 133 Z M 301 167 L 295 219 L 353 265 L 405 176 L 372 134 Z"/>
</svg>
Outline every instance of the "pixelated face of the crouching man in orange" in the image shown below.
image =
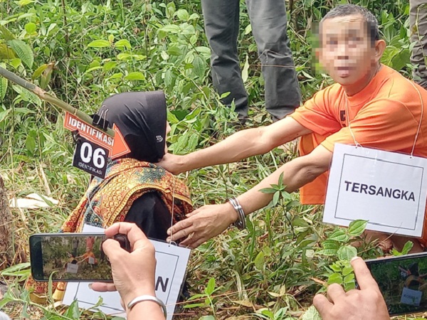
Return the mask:
<svg viewBox="0 0 427 320">
<path fill-rule="evenodd" d="M 379 65 L 381 54 L 367 32 L 362 15 L 327 18 L 322 22 L 322 48 L 318 57 L 327 73 L 344 87 L 348 95 L 362 90 L 371 80 Z M 383 49 L 384 50 L 384 49 Z"/>
</svg>

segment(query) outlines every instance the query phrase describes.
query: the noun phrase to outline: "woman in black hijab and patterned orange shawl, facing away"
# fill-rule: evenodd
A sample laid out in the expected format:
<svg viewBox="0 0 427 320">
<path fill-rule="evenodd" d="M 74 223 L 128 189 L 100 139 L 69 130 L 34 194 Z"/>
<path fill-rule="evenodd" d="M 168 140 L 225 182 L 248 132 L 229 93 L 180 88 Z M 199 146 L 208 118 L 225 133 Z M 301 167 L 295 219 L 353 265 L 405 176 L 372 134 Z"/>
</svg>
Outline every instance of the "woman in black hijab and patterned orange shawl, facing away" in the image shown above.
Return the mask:
<svg viewBox="0 0 427 320">
<path fill-rule="evenodd" d="M 172 221 L 184 218 L 192 206 L 186 185 L 154 164 L 167 152 L 170 131 L 164 93 L 113 95 L 97 114 L 109 127 L 116 124 L 130 153 L 110 161 L 104 179 L 93 178 L 63 230 L 80 231 L 83 223 L 105 228 L 127 221 L 139 225 L 149 238 L 166 240 Z"/>
</svg>

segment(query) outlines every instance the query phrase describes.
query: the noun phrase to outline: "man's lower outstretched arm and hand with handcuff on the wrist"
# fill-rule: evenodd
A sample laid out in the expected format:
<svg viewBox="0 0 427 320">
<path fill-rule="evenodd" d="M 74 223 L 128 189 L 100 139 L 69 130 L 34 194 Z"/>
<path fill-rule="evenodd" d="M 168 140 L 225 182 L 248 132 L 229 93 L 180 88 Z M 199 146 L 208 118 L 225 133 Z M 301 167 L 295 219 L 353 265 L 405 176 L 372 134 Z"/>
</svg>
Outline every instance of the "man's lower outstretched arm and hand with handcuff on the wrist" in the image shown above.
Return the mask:
<svg viewBox="0 0 427 320">
<path fill-rule="evenodd" d="M 292 192 L 327 171 L 331 160 L 332 152 L 320 145 L 307 156 L 300 156 L 284 164 L 258 183 L 257 186 L 238 196 L 237 199 L 244 213 L 248 215 L 268 205 L 273 194 L 262 193 L 260 189 L 277 184 L 280 174 L 283 174 L 283 184 L 286 186 L 286 191 Z M 168 234 L 170 236 L 167 241 L 176 241 L 186 237 L 180 245 L 191 248 L 198 247 L 206 240 L 222 233 L 231 223 L 238 220 L 238 215 L 230 203 L 203 206 L 186 216 L 188 218 L 169 228 Z"/>
</svg>

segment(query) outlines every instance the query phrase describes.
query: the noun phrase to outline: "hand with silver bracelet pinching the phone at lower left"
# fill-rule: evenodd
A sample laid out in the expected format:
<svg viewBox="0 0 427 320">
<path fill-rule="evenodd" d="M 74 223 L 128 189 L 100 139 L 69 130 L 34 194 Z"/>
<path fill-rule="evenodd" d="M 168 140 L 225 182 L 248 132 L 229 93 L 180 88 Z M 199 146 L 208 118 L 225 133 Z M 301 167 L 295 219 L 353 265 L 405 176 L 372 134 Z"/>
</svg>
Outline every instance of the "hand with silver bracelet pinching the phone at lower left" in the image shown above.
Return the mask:
<svg viewBox="0 0 427 320">
<path fill-rule="evenodd" d="M 163 311 L 155 302 L 139 302 L 131 310 L 127 310 L 127 304 L 136 297 L 145 294 L 156 296 L 154 292 L 156 258 L 152 243 L 135 223 L 115 223 L 105 230 L 107 237 L 117 233 L 127 235 L 132 252 L 123 250 L 116 240 L 105 240 L 102 248 L 111 262 L 114 283 L 95 282 L 92 289 L 100 292 L 117 290 L 126 309 L 127 320 L 164 320 Z"/>
</svg>

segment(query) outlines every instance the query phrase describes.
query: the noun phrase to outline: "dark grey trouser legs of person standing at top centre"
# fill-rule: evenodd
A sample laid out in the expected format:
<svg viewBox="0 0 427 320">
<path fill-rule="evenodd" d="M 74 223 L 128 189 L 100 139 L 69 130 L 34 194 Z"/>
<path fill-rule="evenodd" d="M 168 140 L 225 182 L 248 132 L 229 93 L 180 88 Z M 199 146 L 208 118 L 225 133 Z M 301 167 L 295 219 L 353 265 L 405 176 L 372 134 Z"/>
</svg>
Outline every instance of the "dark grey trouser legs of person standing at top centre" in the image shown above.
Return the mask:
<svg viewBox="0 0 427 320">
<path fill-rule="evenodd" d="M 246 0 L 252 32 L 258 46 L 265 80 L 265 108 L 281 119 L 300 105 L 289 39 L 284 0 Z M 212 82 L 223 99 L 235 102 L 239 118 L 248 116 L 248 94 L 238 62 L 239 0 L 201 0 L 206 36 L 211 46 Z"/>
</svg>

